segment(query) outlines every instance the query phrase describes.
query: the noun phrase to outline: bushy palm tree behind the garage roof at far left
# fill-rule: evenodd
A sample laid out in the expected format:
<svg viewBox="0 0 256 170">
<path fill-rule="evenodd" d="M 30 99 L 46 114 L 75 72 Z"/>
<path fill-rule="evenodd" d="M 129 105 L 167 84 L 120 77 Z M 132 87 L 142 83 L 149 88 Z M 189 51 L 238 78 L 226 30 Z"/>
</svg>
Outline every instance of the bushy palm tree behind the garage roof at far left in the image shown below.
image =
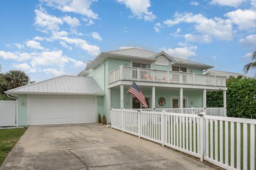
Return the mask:
<svg viewBox="0 0 256 170">
<path fill-rule="evenodd" d="M 7 90 L 24 86 L 29 83 L 28 75 L 20 70 L 10 70 L 9 72 L 4 74 L 4 79 L 7 83 Z"/>
</svg>

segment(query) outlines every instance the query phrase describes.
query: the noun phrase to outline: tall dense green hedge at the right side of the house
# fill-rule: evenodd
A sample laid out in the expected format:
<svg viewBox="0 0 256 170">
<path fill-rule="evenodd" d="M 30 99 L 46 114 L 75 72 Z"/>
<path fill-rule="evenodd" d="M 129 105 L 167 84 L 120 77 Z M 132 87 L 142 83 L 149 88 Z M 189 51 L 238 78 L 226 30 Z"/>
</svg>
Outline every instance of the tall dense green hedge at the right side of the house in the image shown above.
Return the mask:
<svg viewBox="0 0 256 170">
<path fill-rule="evenodd" d="M 229 78 L 227 80 L 227 115 L 256 118 L 256 79 Z M 223 107 L 223 92 L 207 92 L 207 107 Z"/>
</svg>

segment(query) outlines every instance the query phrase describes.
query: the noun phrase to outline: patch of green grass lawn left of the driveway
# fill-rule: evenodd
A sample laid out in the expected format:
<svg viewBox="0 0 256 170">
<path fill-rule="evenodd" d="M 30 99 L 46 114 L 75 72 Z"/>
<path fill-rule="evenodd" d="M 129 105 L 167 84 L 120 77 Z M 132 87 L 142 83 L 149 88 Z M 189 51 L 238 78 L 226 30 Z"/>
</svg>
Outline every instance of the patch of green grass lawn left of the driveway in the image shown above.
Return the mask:
<svg viewBox="0 0 256 170">
<path fill-rule="evenodd" d="M 26 128 L 0 130 L 0 166 L 25 131 Z"/>
</svg>

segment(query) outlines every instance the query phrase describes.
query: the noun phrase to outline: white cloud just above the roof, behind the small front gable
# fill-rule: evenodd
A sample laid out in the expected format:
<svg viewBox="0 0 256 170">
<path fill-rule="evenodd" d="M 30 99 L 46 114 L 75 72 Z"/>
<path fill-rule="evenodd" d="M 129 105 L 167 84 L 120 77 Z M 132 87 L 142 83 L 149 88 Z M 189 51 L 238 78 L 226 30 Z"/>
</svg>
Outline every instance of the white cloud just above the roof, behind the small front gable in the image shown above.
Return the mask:
<svg viewBox="0 0 256 170">
<path fill-rule="evenodd" d="M 180 57 L 183 59 L 187 59 L 190 56 L 196 56 L 197 46 L 192 47 L 177 47 L 177 48 L 162 48 L 167 54 L 174 56 L 174 57 Z"/>
</svg>

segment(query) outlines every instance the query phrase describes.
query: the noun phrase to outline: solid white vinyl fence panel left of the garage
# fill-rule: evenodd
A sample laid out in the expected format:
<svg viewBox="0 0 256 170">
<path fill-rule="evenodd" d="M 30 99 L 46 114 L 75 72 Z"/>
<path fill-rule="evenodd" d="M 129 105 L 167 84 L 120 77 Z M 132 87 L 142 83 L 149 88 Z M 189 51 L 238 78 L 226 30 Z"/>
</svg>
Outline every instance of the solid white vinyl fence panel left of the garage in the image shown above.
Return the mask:
<svg viewBox="0 0 256 170">
<path fill-rule="evenodd" d="M 0 100 L 0 127 L 16 125 L 17 102 Z"/>
</svg>

